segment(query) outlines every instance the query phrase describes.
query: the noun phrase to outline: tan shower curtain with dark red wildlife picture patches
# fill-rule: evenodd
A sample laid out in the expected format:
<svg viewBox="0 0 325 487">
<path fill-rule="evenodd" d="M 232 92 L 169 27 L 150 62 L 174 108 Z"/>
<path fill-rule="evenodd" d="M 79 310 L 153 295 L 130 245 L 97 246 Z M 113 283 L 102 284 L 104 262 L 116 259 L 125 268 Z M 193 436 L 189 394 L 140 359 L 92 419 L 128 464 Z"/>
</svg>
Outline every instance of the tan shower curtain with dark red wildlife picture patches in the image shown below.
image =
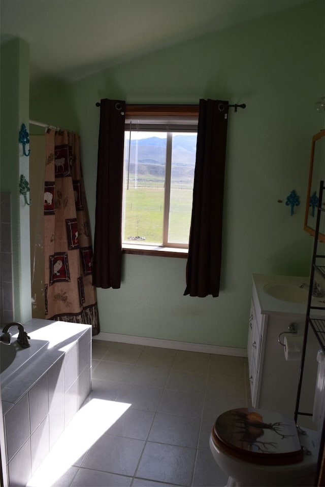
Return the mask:
<svg viewBox="0 0 325 487">
<path fill-rule="evenodd" d="M 45 157 L 45 315 L 49 320 L 91 325 L 92 334 L 97 335 L 100 326 L 79 136 L 48 129 Z"/>
</svg>

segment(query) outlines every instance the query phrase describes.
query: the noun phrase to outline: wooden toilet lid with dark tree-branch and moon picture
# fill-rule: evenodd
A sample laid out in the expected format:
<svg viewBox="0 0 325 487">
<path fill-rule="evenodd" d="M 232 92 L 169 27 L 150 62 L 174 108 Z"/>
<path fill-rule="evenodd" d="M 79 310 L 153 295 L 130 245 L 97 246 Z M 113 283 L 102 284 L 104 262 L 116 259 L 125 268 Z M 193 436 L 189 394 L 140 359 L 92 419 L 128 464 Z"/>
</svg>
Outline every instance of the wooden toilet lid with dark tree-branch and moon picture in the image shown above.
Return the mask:
<svg viewBox="0 0 325 487">
<path fill-rule="evenodd" d="M 303 460 L 293 418 L 253 407 L 223 412 L 212 429 L 212 440 L 248 462 L 290 464 Z"/>
</svg>

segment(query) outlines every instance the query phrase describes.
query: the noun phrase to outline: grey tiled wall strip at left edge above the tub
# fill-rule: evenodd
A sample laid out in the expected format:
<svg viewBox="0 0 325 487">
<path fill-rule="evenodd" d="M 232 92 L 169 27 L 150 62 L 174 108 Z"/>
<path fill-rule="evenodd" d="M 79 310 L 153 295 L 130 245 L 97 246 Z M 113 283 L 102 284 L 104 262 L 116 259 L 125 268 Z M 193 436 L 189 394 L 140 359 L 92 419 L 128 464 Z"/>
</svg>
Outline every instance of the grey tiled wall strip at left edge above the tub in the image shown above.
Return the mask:
<svg viewBox="0 0 325 487">
<path fill-rule="evenodd" d="M 11 195 L 0 193 L 0 324 L 13 321 Z"/>
</svg>

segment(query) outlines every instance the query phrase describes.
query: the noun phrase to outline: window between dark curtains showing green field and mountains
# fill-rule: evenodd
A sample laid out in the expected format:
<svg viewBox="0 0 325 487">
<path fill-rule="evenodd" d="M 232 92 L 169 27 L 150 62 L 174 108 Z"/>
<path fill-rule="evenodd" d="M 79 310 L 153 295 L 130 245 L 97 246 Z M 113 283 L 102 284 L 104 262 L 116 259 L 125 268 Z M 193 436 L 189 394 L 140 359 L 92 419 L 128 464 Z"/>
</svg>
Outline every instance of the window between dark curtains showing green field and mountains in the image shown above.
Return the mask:
<svg viewBox="0 0 325 487">
<path fill-rule="evenodd" d="M 123 251 L 186 257 L 198 107 L 126 108 Z M 132 107 L 132 106 L 131 106 Z"/>
</svg>

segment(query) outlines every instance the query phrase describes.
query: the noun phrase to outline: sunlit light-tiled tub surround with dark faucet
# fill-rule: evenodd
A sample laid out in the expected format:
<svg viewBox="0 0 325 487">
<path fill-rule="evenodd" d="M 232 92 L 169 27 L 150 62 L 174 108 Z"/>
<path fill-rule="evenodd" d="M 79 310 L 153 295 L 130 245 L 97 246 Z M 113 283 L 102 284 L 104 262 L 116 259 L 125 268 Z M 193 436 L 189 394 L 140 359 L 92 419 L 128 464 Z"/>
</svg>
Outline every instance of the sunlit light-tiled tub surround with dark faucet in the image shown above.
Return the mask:
<svg viewBox="0 0 325 487">
<path fill-rule="evenodd" d="M 26 485 L 91 391 L 89 325 L 32 319 L 24 327 L 31 343 L 46 346 L 1 388 L 9 485 L 15 487 Z M 24 352 L 16 352 L 18 361 Z"/>
</svg>

